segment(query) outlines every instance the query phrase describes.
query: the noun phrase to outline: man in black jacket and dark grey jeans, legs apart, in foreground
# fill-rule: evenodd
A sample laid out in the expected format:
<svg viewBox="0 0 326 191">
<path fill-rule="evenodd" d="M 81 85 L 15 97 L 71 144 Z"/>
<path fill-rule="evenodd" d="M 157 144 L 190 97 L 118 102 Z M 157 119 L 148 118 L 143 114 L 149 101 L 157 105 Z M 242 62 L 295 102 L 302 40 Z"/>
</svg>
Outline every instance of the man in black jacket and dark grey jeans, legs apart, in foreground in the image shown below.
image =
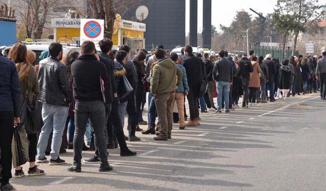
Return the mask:
<svg viewBox="0 0 326 191">
<path fill-rule="evenodd" d="M 73 96 L 75 98 L 75 134 L 73 139 L 74 159 L 68 171 L 82 171 L 82 150 L 86 124 L 90 119 L 93 124 L 96 146 L 101 160 L 100 172 L 111 171 L 106 154 L 105 128 L 105 97 L 102 86 L 106 87 L 108 75 L 105 65 L 95 54 L 95 44 L 85 41 L 82 44 L 82 56 L 71 65 L 73 77 Z M 105 94 L 104 94 L 105 95 Z"/>
</svg>

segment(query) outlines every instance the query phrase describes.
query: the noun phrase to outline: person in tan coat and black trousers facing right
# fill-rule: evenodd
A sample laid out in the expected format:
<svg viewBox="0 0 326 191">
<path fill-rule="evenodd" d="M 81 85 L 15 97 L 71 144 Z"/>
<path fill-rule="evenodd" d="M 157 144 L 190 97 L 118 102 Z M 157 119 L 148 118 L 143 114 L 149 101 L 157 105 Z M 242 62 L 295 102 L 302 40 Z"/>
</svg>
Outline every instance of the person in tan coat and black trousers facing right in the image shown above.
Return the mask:
<svg viewBox="0 0 326 191">
<path fill-rule="evenodd" d="M 257 62 L 257 57 L 251 59 L 251 64 L 253 65 L 253 72 L 250 73 L 250 83 L 249 83 L 249 105 L 256 105 L 256 97 L 258 88 L 260 88 L 260 73 L 261 69 Z"/>
</svg>

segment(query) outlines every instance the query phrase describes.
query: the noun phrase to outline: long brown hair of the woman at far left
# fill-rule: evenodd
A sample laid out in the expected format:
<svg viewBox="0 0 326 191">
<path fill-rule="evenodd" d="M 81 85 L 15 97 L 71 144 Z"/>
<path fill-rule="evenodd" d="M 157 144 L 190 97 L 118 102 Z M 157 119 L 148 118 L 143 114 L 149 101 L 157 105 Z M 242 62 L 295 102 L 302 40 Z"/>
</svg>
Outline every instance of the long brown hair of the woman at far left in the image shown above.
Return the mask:
<svg viewBox="0 0 326 191">
<path fill-rule="evenodd" d="M 27 48 L 23 43 L 14 44 L 8 54 L 8 58 L 14 63 L 27 63 Z"/>
</svg>

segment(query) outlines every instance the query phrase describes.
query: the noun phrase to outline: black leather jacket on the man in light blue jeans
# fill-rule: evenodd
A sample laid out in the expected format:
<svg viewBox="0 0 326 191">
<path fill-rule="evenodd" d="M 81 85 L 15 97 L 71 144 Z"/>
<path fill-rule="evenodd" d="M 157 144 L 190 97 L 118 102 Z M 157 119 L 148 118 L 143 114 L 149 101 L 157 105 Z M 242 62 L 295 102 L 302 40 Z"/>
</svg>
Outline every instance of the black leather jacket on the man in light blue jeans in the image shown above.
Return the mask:
<svg viewBox="0 0 326 191">
<path fill-rule="evenodd" d="M 50 57 L 40 61 L 38 80 L 39 99 L 42 103 L 63 106 L 71 103 L 67 68 L 57 58 Z"/>
</svg>

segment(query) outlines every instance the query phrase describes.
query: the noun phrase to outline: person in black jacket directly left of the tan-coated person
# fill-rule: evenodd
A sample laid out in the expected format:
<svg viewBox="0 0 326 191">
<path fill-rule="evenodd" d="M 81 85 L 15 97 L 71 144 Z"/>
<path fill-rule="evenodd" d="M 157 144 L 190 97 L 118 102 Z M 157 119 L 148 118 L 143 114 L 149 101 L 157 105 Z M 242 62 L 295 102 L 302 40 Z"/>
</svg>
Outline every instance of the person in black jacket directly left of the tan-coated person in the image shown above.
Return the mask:
<svg viewBox="0 0 326 191">
<path fill-rule="evenodd" d="M 242 54 L 242 58 L 238 61 L 238 65 L 241 68 L 242 86 L 243 86 L 243 100 L 242 107 L 248 107 L 248 95 L 249 95 L 249 83 L 250 72 L 253 72 L 253 65 L 247 58 L 247 54 Z"/>
</svg>

